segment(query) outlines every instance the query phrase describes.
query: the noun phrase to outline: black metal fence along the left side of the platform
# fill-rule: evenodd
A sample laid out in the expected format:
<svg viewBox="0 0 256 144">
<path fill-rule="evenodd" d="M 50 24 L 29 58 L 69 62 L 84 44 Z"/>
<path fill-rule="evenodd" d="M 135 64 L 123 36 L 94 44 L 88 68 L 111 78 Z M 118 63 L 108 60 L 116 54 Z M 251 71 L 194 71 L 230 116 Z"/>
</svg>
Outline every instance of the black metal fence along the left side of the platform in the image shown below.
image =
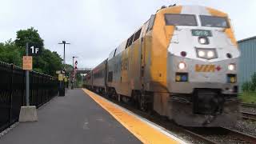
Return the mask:
<svg viewBox="0 0 256 144">
<path fill-rule="evenodd" d="M 0 132 L 18 121 L 21 106 L 26 105 L 25 70 L 0 62 Z M 58 80 L 30 71 L 30 105 L 42 106 L 58 94 Z"/>
</svg>

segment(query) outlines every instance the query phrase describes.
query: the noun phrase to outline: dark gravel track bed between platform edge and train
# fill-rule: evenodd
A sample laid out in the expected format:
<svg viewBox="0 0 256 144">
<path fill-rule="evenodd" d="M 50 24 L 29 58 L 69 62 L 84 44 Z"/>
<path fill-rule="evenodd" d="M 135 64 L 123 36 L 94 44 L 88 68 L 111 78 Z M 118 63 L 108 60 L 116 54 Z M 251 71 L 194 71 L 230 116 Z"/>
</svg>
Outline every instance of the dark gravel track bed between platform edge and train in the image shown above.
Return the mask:
<svg viewBox="0 0 256 144">
<path fill-rule="evenodd" d="M 106 97 L 104 97 L 106 98 Z M 106 98 L 111 102 L 114 102 L 118 106 L 125 107 L 127 110 L 132 111 L 134 114 L 138 114 L 142 118 L 146 118 L 150 122 L 154 122 L 158 126 L 162 126 L 166 130 L 177 134 L 179 137 L 185 135 L 185 139 L 194 143 L 256 143 L 256 137 L 238 132 L 236 130 L 230 130 L 224 127 L 219 128 L 187 128 L 176 125 L 174 122 L 162 118 L 158 114 L 149 114 L 142 110 L 136 109 L 134 106 L 124 102 L 118 102 L 111 98 Z"/>
</svg>

